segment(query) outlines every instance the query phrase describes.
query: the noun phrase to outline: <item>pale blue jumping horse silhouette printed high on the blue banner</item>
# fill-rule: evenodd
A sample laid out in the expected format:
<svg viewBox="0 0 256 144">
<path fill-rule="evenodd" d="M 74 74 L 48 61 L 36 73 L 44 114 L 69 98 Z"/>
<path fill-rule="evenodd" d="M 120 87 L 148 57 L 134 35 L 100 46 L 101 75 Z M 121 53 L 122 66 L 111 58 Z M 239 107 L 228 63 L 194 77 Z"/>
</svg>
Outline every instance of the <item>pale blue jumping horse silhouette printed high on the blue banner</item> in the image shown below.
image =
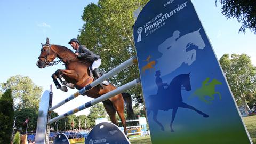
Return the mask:
<svg viewBox="0 0 256 144">
<path fill-rule="evenodd" d="M 158 51 L 162 54 L 157 59 L 157 69 L 166 66 L 166 62 L 172 65 L 162 69 L 162 75 L 166 75 L 179 68 L 182 63 L 190 66 L 196 60 L 196 49 L 192 49 L 191 45 L 204 49 L 205 43 L 200 34 L 200 28 L 191 33 L 185 34 L 174 42 L 169 42 L 167 38 L 158 46 Z"/>
</svg>

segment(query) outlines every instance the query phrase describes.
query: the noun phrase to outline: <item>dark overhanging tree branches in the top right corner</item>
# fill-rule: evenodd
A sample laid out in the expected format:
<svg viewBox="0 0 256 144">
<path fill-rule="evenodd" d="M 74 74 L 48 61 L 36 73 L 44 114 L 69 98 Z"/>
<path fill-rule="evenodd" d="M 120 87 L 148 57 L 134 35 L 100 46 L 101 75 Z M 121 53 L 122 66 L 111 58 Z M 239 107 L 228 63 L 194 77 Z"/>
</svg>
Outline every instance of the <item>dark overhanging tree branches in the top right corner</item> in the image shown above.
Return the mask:
<svg viewBox="0 0 256 144">
<path fill-rule="evenodd" d="M 217 4 L 215 1 L 215 4 Z M 249 28 L 256 34 L 256 3 L 255 0 L 219 0 L 222 4 L 222 14 L 227 18 L 237 18 L 238 22 L 242 22 L 239 32 L 245 33 Z"/>
</svg>

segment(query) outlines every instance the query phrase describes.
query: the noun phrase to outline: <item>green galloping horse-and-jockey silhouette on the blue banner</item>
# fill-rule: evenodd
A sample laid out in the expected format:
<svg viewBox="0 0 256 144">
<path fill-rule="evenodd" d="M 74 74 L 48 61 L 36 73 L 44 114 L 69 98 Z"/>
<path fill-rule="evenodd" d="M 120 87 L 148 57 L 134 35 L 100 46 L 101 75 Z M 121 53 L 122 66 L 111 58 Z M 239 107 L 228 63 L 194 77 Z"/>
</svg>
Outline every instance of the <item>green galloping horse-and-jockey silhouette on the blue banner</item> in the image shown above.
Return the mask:
<svg viewBox="0 0 256 144">
<path fill-rule="evenodd" d="M 211 82 L 209 82 L 210 78 L 207 77 L 203 83 L 202 83 L 202 87 L 200 87 L 199 89 L 197 89 L 191 97 L 198 97 L 201 101 L 207 103 L 207 104 L 211 104 L 212 100 L 214 100 L 214 94 L 218 94 L 221 100 L 221 94 L 220 92 L 216 92 L 215 91 L 215 85 L 222 85 L 221 82 L 219 82 L 217 79 L 212 79 Z M 205 97 L 210 97 L 210 99 L 206 100 Z"/>
</svg>

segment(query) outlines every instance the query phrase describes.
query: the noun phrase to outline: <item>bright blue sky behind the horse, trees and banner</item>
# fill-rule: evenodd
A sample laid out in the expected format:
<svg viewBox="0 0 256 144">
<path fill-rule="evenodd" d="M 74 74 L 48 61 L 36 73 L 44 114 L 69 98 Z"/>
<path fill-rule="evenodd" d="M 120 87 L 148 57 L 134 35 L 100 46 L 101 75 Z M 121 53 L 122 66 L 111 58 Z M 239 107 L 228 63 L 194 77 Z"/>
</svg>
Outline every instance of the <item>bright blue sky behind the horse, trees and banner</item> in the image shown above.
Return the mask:
<svg viewBox="0 0 256 144">
<path fill-rule="evenodd" d="M 220 10 L 220 3 L 215 6 L 215 0 L 191 0 L 199 19 L 219 59 L 223 54 L 242 54 L 251 57 L 256 66 L 256 35 L 250 30 L 238 33 L 241 23 L 237 19 L 226 19 Z M 15 75 L 28 76 L 37 86 L 43 87 L 43 92 L 53 84 L 51 75 L 57 69 L 64 69 L 61 64 L 39 69 L 36 66 L 40 54 L 41 43 L 49 37 L 51 44 L 69 47 L 71 38 L 79 35 L 84 21 L 81 19 L 84 7 L 94 1 L 0 1 L 0 45 L 2 71 L 0 83 Z M 189 23 L 188 23 L 189 27 Z M 90 49 L 90 47 L 89 47 Z M 69 89 L 61 92 L 53 84 L 53 105 L 59 103 L 78 90 Z M 55 111 L 60 115 L 92 100 L 80 96 Z M 89 109 L 76 113 L 88 114 Z"/>
</svg>

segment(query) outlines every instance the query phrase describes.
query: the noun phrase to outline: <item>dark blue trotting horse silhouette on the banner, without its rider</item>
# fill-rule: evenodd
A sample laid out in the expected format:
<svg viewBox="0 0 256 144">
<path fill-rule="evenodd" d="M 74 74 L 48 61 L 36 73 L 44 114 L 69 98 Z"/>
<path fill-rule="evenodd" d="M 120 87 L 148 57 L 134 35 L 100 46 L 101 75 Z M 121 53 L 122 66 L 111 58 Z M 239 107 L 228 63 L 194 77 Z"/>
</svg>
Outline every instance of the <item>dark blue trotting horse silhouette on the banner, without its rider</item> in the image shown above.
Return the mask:
<svg viewBox="0 0 256 144">
<path fill-rule="evenodd" d="M 183 102 L 183 99 L 181 96 L 182 87 L 185 87 L 186 91 L 191 90 L 189 75 L 190 73 L 180 74 L 174 77 L 173 80 L 170 82 L 169 86 L 166 89 L 164 89 L 164 91 L 154 95 L 150 95 L 148 98 L 145 99 L 146 100 L 145 103 L 147 103 L 146 105 L 148 105 L 147 115 L 149 116 L 150 112 L 153 111 L 153 120 L 161 127 L 161 130 L 163 131 L 164 131 L 163 125 L 157 120 L 158 110 L 165 111 L 165 110 L 173 109 L 172 120 L 170 123 L 171 132 L 174 132 L 172 125 L 173 125 L 173 121 L 175 119 L 178 108 L 191 109 L 196 111 L 198 114 L 203 115 L 203 117 L 209 117 L 209 115 Z"/>
</svg>

